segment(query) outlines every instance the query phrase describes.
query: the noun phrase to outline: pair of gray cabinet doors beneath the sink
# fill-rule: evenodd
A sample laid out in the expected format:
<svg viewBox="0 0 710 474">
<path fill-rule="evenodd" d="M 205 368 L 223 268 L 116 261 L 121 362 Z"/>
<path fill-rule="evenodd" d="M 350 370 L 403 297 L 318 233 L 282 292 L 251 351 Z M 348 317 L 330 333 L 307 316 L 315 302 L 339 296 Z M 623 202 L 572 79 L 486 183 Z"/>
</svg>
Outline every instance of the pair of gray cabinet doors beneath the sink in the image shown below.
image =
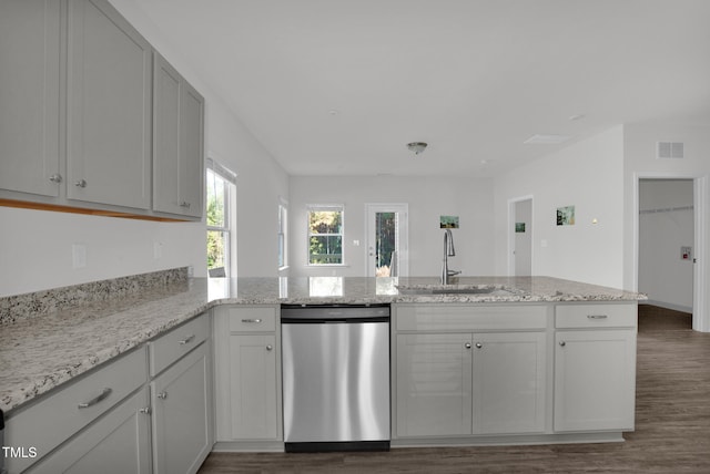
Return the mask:
<svg viewBox="0 0 710 474">
<path fill-rule="evenodd" d="M 545 431 L 545 332 L 407 333 L 396 348 L 398 436 Z"/>
</svg>

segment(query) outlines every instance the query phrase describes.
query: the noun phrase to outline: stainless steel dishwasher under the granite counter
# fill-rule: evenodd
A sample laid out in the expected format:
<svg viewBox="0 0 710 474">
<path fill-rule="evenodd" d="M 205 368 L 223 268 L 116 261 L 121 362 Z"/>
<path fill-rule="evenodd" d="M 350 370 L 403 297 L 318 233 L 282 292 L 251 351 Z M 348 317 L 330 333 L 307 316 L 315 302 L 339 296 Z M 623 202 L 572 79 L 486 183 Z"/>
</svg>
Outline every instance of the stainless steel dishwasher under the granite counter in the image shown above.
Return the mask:
<svg viewBox="0 0 710 474">
<path fill-rule="evenodd" d="M 389 305 L 281 309 L 286 452 L 389 450 Z"/>
</svg>

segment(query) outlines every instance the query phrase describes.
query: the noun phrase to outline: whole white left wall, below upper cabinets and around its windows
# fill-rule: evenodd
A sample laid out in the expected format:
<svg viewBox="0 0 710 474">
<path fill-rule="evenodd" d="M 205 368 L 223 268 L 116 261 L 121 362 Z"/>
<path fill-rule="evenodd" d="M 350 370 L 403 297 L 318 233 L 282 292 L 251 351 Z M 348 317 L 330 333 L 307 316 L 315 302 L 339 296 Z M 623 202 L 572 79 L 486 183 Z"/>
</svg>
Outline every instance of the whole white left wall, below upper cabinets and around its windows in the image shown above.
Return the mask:
<svg viewBox="0 0 710 474">
<path fill-rule="evenodd" d="M 240 120 L 181 58 L 134 0 L 111 3 L 205 97 L 207 156 L 237 176 L 237 271 L 276 276 L 278 196 L 288 176 Z M 154 241 L 162 256 L 153 258 Z M 87 246 L 87 267 L 74 270 L 71 246 Z M 271 250 L 273 249 L 273 251 Z M 168 268 L 193 266 L 206 276 L 205 227 L 201 223 L 149 223 L 0 207 L 0 296 L 75 285 Z"/>
</svg>

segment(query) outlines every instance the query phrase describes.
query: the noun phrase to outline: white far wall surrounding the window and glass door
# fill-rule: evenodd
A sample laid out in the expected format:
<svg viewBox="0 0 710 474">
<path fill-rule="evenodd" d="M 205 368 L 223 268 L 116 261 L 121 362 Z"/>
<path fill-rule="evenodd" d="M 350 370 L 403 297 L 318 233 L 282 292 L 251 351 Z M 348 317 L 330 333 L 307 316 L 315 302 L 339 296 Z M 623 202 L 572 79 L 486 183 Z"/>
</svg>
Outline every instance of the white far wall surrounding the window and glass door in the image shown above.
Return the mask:
<svg viewBox="0 0 710 474">
<path fill-rule="evenodd" d="M 366 203 L 409 205 L 409 276 L 442 271 L 444 230 L 439 216 L 459 216 L 456 256 L 449 267 L 465 276 L 493 275 L 493 182 L 457 177 L 291 177 L 291 276 L 365 276 Z M 306 205 L 345 205 L 345 267 L 308 267 Z M 359 240 L 361 246 L 353 245 Z"/>
</svg>

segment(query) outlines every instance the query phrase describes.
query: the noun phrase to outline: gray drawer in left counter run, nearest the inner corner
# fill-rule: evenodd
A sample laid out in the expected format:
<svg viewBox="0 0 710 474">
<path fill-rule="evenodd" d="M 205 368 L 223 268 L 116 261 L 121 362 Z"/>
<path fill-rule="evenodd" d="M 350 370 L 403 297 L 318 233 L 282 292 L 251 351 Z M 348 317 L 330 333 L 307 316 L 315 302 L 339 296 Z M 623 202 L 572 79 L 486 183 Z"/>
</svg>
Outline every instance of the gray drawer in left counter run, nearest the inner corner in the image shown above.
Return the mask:
<svg viewBox="0 0 710 474">
<path fill-rule="evenodd" d="M 162 372 L 171 363 L 200 346 L 210 334 L 210 320 L 202 315 L 151 341 L 151 377 Z"/>
</svg>

